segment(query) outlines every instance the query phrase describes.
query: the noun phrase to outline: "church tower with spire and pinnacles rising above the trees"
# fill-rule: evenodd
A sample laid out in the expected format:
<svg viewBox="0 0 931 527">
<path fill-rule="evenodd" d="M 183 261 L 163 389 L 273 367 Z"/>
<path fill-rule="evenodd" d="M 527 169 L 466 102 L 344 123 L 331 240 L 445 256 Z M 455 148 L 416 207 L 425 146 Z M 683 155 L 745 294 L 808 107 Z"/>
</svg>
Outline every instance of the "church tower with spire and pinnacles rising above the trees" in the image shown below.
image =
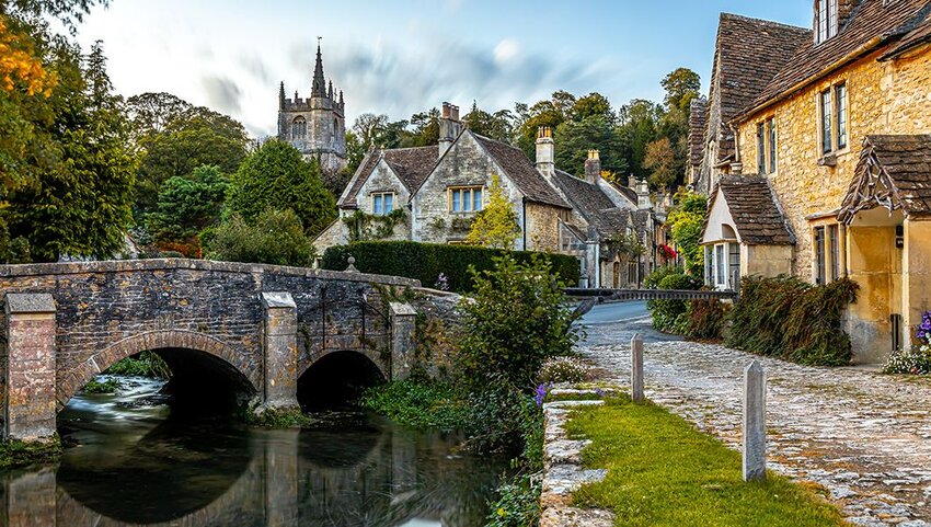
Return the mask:
<svg viewBox="0 0 931 527">
<path fill-rule="evenodd" d="M 317 44 L 317 64 L 310 96 L 285 98 L 285 83 L 278 89 L 278 139 L 294 145 L 304 158 L 320 157 L 324 170 L 335 172 L 346 167 L 346 103 L 338 100 L 323 76 L 323 56 Z"/>
</svg>

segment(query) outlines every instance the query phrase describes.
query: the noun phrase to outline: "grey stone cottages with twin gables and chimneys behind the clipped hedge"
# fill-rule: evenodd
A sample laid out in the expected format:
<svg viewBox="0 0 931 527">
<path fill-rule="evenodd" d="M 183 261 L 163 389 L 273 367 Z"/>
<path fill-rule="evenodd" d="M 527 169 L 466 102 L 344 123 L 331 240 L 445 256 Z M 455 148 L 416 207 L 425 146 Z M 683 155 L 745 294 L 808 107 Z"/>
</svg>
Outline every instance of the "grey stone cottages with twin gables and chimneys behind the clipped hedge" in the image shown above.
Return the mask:
<svg viewBox="0 0 931 527">
<path fill-rule="evenodd" d="M 583 282 L 591 287 L 639 283 L 655 263 L 642 257 L 631 274 L 610 247 L 633 233 L 655 252 L 656 221 L 645 184 L 637 195 L 607 182 L 595 152 L 586 163 L 587 181 L 559 171 L 550 130 L 538 135 L 531 161 L 519 148 L 464 128 L 459 108 L 445 103 L 437 146 L 368 152 L 337 201 L 340 219 L 314 241 L 318 252 L 360 238 L 359 221 L 367 226 L 361 238 L 463 243 L 497 181 L 517 217 L 515 250 L 576 255 Z"/>
</svg>

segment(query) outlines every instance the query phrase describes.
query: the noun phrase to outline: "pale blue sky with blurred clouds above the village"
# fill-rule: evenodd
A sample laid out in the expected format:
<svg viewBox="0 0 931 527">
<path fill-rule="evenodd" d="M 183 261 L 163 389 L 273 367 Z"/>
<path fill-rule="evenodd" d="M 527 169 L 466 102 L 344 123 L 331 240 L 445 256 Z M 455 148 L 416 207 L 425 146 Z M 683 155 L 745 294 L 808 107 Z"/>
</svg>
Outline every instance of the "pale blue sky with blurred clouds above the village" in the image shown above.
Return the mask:
<svg viewBox="0 0 931 527">
<path fill-rule="evenodd" d="M 678 67 L 708 78 L 717 16 L 809 25 L 811 0 L 111 0 L 79 26 L 103 41 L 126 96 L 165 91 L 274 135 L 278 85 L 310 93 L 318 37 L 324 72 L 359 114 L 392 121 L 472 102 L 490 112 L 556 90 L 619 107 L 662 101 Z"/>
</svg>

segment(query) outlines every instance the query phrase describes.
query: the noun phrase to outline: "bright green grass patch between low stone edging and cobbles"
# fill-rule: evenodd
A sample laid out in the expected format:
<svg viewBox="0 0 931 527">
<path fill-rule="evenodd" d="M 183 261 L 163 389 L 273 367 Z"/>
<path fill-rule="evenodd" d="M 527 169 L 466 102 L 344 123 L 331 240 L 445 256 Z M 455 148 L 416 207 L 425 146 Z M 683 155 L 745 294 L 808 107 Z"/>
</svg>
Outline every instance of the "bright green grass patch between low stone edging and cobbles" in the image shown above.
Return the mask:
<svg viewBox="0 0 931 527">
<path fill-rule="evenodd" d="M 567 428 L 593 440 L 583 451 L 586 467 L 608 469 L 575 501 L 613 511 L 614 525 L 846 525 L 807 486 L 772 473 L 765 484 L 744 483 L 738 452 L 659 406 L 613 399 L 578 410 Z"/>
</svg>

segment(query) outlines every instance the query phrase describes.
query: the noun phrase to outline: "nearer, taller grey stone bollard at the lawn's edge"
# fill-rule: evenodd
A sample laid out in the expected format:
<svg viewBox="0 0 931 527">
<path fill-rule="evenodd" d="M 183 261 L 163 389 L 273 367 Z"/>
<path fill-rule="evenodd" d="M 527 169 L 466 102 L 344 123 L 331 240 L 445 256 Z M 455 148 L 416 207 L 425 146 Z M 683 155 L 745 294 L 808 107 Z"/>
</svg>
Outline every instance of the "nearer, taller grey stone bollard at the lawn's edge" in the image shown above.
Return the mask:
<svg viewBox="0 0 931 527">
<path fill-rule="evenodd" d="M 744 370 L 744 481 L 766 481 L 766 371 Z"/>
</svg>

